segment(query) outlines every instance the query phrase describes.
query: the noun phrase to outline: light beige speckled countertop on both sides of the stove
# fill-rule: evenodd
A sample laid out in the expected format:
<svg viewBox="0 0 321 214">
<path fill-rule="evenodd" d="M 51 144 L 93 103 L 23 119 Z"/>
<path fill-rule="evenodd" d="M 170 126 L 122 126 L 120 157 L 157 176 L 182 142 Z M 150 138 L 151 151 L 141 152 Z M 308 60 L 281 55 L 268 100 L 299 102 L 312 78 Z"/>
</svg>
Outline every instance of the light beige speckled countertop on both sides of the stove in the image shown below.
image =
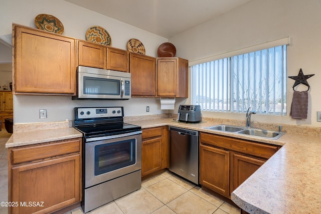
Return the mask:
<svg viewBox="0 0 321 214">
<path fill-rule="evenodd" d="M 188 124 L 172 118 L 125 120 L 142 128 L 176 126 L 213 134 L 282 145 L 253 175 L 232 192 L 232 200 L 250 213 L 321 213 L 321 128 L 283 125 L 286 132 L 277 140 L 204 129 L 204 127 L 230 124 L 244 126 L 245 121 L 203 118 L 203 122 Z M 66 122 L 65 122 L 66 123 Z M 6 147 L 35 144 L 81 137 L 74 128 L 14 132 Z M 258 124 L 254 127 L 277 131 L 278 125 Z M 56 124 L 57 125 L 57 124 Z M 70 124 L 69 124 L 70 125 Z"/>
</svg>

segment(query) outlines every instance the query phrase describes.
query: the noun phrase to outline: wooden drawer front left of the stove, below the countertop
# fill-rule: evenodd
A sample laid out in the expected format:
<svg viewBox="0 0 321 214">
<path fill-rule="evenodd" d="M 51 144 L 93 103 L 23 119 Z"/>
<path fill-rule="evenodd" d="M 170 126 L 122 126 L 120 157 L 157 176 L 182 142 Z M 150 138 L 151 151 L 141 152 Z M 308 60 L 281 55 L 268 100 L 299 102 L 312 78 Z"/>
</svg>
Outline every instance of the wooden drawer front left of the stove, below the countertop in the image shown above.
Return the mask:
<svg viewBox="0 0 321 214">
<path fill-rule="evenodd" d="M 80 139 L 12 149 L 12 164 L 80 152 Z"/>
</svg>

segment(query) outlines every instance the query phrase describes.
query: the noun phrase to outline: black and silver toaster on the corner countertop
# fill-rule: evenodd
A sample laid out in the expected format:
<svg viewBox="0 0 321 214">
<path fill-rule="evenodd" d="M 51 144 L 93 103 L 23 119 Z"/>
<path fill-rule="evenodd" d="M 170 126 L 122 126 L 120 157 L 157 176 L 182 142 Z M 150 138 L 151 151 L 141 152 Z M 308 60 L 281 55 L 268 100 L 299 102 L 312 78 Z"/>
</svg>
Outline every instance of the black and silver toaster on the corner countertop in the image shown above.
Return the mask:
<svg viewBox="0 0 321 214">
<path fill-rule="evenodd" d="M 198 123 L 202 121 L 201 106 L 180 105 L 177 119 L 186 123 Z"/>
</svg>

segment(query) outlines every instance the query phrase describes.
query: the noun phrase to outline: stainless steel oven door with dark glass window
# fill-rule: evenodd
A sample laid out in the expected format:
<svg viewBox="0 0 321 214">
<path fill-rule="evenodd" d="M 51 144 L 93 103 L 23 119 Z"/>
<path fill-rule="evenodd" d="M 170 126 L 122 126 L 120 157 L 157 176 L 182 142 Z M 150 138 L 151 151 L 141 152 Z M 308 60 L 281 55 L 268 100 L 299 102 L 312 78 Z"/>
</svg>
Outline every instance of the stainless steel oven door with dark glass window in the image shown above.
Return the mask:
<svg viewBox="0 0 321 214">
<path fill-rule="evenodd" d="M 85 188 L 141 169 L 141 131 L 85 143 Z"/>
</svg>

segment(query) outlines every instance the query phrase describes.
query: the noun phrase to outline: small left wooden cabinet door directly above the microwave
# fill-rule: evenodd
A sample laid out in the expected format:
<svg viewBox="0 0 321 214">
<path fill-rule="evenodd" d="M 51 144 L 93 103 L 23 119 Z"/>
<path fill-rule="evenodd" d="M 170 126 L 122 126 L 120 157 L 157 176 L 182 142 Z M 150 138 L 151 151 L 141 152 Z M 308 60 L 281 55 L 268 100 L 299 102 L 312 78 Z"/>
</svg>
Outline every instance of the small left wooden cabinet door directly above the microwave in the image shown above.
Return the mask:
<svg viewBox="0 0 321 214">
<path fill-rule="evenodd" d="M 106 47 L 87 42 L 78 42 L 78 64 L 94 68 L 106 68 Z"/>
</svg>

